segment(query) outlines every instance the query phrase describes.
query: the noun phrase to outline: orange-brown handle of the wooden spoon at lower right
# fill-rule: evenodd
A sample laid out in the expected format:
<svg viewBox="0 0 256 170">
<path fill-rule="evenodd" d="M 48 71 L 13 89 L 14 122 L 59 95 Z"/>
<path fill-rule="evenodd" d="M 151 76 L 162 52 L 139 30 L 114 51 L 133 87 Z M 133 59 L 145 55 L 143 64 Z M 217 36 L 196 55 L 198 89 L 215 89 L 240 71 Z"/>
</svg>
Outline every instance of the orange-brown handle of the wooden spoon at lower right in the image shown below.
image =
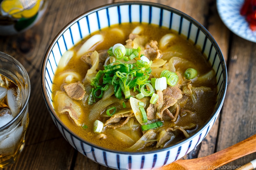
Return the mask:
<svg viewBox="0 0 256 170">
<path fill-rule="evenodd" d="M 205 161 L 211 165 L 222 166 L 245 155 L 256 152 L 256 135 L 249 137 L 233 146 L 206 156 Z"/>
</svg>

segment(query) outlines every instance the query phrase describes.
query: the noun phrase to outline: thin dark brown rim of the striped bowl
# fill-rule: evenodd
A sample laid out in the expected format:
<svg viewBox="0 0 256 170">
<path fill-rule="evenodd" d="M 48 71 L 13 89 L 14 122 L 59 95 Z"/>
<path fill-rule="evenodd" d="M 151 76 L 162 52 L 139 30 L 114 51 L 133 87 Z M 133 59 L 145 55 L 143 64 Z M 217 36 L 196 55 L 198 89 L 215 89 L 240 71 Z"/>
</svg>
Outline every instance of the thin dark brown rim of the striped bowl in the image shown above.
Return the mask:
<svg viewBox="0 0 256 170">
<path fill-rule="evenodd" d="M 47 60 L 49 58 L 49 54 L 51 53 L 51 50 L 52 50 L 54 44 L 58 41 L 60 36 L 70 26 L 72 26 L 74 23 L 76 23 L 81 18 L 84 18 L 85 16 L 87 16 L 87 15 L 89 15 L 91 13 L 94 13 L 96 11 L 102 10 L 102 9 L 106 9 L 106 8 L 113 7 L 113 6 L 121 6 L 121 5 L 146 5 L 146 6 L 152 6 L 152 7 L 161 8 L 163 10 L 172 11 L 172 12 L 180 15 L 181 17 L 183 17 L 183 18 L 187 19 L 188 21 L 190 21 L 192 24 L 196 25 L 200 29 L 200 31 L 202 31 L 207 36 L 207 38 L 209 38 L 209 40 L 211 41 L 213 46 L 216 48 L 216 52 L 220 56 L 220 62 L 221 62 L 221 67 L 222 67 L 222 72 L 223 72 L 223 75 L 222 75 L 222 77 L 223 77 L 223 86 L 222 86 L 222 88 L 220 88 L 221 95 L 220 95 L 219 98 L 221 100 L 219 100 L 219 104 L 216 103 L 216 107 L 215 107 L 212 115 L 208 118 L 208 120 L 199 129 L 197 129 L 196 133 L 194 133 L 190 137 L 185 138 L 185 139 L 183 139 L 183 140 L 181 140 L 181 141 L 179 141 L 179 142 L 177 142 L 177 143 L 175 143 L 173 145 L 170 145 L 170 146 L 168 146 L 166 148 L 159 148 L 159 149 L 154 149 L 154 150 L 150 150 L 150 151 L 142 151 L 142 152 L 127 152 L 127 151 L 113 150 L 113 149 L 108 149 L 108 148 L 105 148 L 105 147 L 102 147 L 102 146 L 98 146 L 96 144 L 93 144 L 93 143 L 91 143 L 89 141 L 84 140 L 82 137 L 78 136 L 73 131 L 71 131 L 65 124 L 62 123 L 60 118 L 56 115 L 54 109 L 52 107 L 50 107 L 51 104 L 50 104 L 50 101 L 48 100 L 48 97 L 47 97 L 44 77 L 45 77 L 46 63 L 47 63 Z M 99 150 L 103 150 L 103 151 L 106 151 L 106 152 L 112 152 L 112 153 L 116 153 L 116 154 L 128 154 L 128 155 L 140 155 L 140 154 L 151 154 L 151 153 L 155 153 L 155 152 L 163 152 L 163 151 L 175 148 L 178 145 L 182 145 L 183 143 L 186 143 L 189 140 L 191 140 L 192 138 L 194 138 L 195 136 L 199 135 L 207 126 L 210 125 L 210 123 L 212 122 L 212 119 L 216 116 L 216 114 L 220 113 L 220 110 L 221 110 L 221 107 L 223 105 L 223 102 L 224 102 L 224 99 L 225 99 L 225 95 L 226 95 L 226 92 L 227 92 L 227 79 L 228 79 L 227 78 L 227 67 L 226 67 L 224 56 L 223 56 L 223 54 L 222 54 L 222 52 L 220 50 L 220 47 L 217 44 L 217 42 L 214 40 L 212 35 L 209 33 L 209 31 L 203 25 L 201 25 L 198 21 L 196 21 L 194 18 L 190 17 L 186 13 L 184 13 L 182 11 L 179 11 L 179 10 L 177 10 L 175 8 L 172 8 L 172 7 L 164 5 L 164 4 L 158 4 L 158 3 L 153 3 L 153 2 L 143 2 L 143 1 L 140 1 L 140 2 L 139 1 L 116 2 L 116 3 L 112 3 L 112 4 L 101 5 L 101 6 L 95 7 L 93 9 L 91 9 L 91 10 L 85 11 L 84 13 L 80 14 L 78 17 L 76 17 L 73 20 L 71 20 L 54 37 L 53 41 L 51 42 L 51 44 L 50 44 L 49 48 L 47 49 L 47 52 L 46 52 L 46 54 L 44 56 L 44 60 L 43 60 L 43 63 L 42 63 L 42 70 L 41 70 L 41 85 L 42 85 L 42 90 L 43 90 L 44 101 L 46 103 L 46 106 L 48 108 L 49 113 L 51 115 L 53 115 L 55 120 L 62 126 L 62 128 L 64 128 L 68 133 L 72 134 L 72 136 L 75 137 L 80 142 L 85 143 L 87 145 L 90 145 L 91 147 L 94 147 L 94 148 L 97 148 Z M 216 119 L 217 118 L 218 118 L 218 116 L 216 116 Z M 216 119 L 214 120 L 214 122 L 216 121 Z"/>
</svg>

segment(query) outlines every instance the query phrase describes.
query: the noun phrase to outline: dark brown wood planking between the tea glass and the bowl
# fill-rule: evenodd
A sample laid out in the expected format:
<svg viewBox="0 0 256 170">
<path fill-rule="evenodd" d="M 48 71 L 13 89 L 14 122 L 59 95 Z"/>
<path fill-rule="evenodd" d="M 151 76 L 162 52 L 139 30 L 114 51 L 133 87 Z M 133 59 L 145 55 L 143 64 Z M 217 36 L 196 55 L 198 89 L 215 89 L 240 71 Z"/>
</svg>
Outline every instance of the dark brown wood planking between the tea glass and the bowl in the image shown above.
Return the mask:
<svg viewBox="0 0 256 170">
<path fill-rule="evenodd" d="M 53 38 L 72 19 L 108 0 L 49 1 L 43 18 L 31 29 L 14 36 L 0 37 L 0 51 L 20 61 L 29 74 L 29 125 L 26 144 L 17 163 L 6 169 L 70 169 L 77 151 L 54 125 L 41 88 L 41 67 Z"/>
</svg>

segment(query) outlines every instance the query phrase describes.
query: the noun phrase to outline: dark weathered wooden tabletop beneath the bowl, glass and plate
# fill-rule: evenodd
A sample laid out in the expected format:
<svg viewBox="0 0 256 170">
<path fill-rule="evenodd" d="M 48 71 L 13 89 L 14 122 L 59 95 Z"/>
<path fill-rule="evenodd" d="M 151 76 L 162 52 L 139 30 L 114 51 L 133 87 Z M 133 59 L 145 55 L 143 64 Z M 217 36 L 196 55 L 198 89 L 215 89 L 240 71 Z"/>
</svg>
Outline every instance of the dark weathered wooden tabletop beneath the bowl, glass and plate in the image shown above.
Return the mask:
<svg viewBox="0 0 256 170">
<path fill-rule="evenodd" d="M 68 22 L 85 11 L 117 1 L 49 1 L 45 15 L 36 26 L 15 36 L 0 37 L 0 51 L 18 59 L 28 71 L 31 81 L 26 145 L 17 162 L 6 170 L 111 169 L 77 152 L 55 127 L 42 95 L 41 68 L 51 41 Z M 253 65 L 256 64 L 256 43 L 246 41 L 228 30 L 218 15 L 215 0 L 150 1 L 183 11 L 205 26 L 219 44 L 227 63 L 228 91 L 219 119 L 203 142 L 184 159 L 212 154 L 254 135 L 256 67 Z M 256 154 L 251 154 L 228 165 L 244 165 L 255 158 Z"/>
</svg>

